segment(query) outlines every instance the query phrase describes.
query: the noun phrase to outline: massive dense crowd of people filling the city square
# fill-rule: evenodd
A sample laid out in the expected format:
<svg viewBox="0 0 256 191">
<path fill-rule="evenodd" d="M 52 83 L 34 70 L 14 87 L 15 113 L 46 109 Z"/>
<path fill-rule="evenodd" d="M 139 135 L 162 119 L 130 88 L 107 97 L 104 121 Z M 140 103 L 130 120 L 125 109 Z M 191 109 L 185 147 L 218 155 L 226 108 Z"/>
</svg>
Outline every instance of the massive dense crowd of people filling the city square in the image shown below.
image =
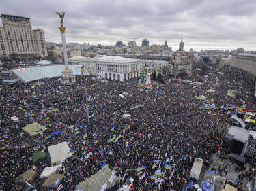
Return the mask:
<svg viewBox="0 0 256 191">
<path fill-rule="evenodd" d="M 48 146 L 63 141 L 69 141 L 70 149 L 76 151 L 58 171 L 64 174 L 60 182 L 63 190 L 74 190 L 81 181 L 97 173 L 104 162 L 115 169 L 119 185 L 132 177 L 134 190 L 182 190 L 190 181 L 195 158 L 201 157 L 208 164 L 218 149 L 222 135 L 212 130 L 220 120 L 231 117 L 226 109 L 229 104 L 246 104 L 246 109 L 256 110 L 253 88 L 239 72 L 223 75 L 218 69 L 208 70 L 207 76 L 194 73 L 188 78 L 201 85 L 167 80 L 164 84 L 152 83 L 149 91 L 140 91 L 136 80 L 101 82 L 87 77 L 88 105 L 81 76 L 71 86 L 63 86 L 57 79 L 41 80 L 42 84 L 35 86 L 34 82 L 3 86 L 0 190 L 22 190 L 23 184 L 16 178 L 32 168 L 33 153 L 46 151 L 47 160 L 35 165 L 40 175 L 44 167 L 51 167 Z M 209 89 L 215 92 L 207 92 Z M 240 94 L 229 97 L 229 89 L 239 90 Z M 128 95 L 119 97 L 122 92 Z M 197 99 L 200 95 L 208 98 Z M 206 103 L 215 105 L 202 108 Z M 131 117 L 122 118 L 125 113 Z M 12 122 L 12 116 L 19 118 L 18 126 Z M 23 134 L 21 128 L 31 122 L 46 126 L 46 131 L 35 137 Z M 73 125 L 79 133 L 68 128 Z M 52 135 L 55 130 L 64 133 Z M 110 141 L 113 137 L 115 141 Z M 89 158 L 79 160 L 89 152 Z M 143 169 L 138 171 L 139 167 Z M 157 170 L 161 172 L 158 177 L 162 184 L 152 179 Z M 33 189 L 40 190 L 44 180 L 35 181 Z"/>
</svg>

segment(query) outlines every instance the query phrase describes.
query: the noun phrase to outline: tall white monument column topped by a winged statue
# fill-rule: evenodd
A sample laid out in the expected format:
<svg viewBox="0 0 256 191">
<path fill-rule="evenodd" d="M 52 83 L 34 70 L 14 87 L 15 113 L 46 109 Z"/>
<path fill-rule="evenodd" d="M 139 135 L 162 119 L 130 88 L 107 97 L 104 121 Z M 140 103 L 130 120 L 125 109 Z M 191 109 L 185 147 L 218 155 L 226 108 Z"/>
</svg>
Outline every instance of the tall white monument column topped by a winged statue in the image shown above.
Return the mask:
<svg viewBox="0 0 256 191">
<path fill-rule="evenodd" d="M 65 69 L 62 71 L 61 82 L 62 84 L 72 84 L 76 82 L 76 77 L 68 67 L 68 56 L 67 56 L 66 38 L 65 38 L 66 27 L 64 27 L 63 25 L 63 18 L 65 15 L 65 12 L 56 12 L 56 13 L 61 18 L 61 27 L 59 27 L 59 31 L 61 31 L 63 57 L 64 57 L 64 63 L 65 63 Z"/>
</svg>

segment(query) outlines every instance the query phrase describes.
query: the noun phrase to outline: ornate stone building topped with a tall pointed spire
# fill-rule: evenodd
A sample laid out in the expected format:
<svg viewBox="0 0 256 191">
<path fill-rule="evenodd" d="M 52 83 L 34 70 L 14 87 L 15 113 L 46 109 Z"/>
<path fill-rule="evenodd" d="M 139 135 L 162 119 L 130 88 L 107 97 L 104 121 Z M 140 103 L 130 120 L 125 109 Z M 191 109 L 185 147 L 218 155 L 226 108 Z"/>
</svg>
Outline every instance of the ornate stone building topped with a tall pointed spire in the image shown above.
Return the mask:
<svg viewBox="0 0 256 191">
<path fill-rule="evenodd" d="M 173 53 L 171 57 L 171 75 L 180 75 L 182 73 L 191 73 L 194 65 L 194 55 L 184 51 L 184 42 L 180 41 L 179 50 Z"/>
</svg>

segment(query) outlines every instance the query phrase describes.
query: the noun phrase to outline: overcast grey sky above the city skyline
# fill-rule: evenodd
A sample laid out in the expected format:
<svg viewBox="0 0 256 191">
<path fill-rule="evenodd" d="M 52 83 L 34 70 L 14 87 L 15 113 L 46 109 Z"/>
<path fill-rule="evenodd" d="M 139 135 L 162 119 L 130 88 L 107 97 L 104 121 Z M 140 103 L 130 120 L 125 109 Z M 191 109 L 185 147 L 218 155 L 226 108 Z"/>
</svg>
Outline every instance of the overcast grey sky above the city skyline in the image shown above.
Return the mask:
<svg viewBox="0 0 256 191">
<path fill-rule="evenodd" d="M 66 42 L 141 45 L 163 44 L 184 49 L 256 50 L 256 0 L 1 0 L 1 14 L 31 18 L 44 29 L 46 41 L 61 42 L 59 16 L 66 12 Z"/>
</svg>

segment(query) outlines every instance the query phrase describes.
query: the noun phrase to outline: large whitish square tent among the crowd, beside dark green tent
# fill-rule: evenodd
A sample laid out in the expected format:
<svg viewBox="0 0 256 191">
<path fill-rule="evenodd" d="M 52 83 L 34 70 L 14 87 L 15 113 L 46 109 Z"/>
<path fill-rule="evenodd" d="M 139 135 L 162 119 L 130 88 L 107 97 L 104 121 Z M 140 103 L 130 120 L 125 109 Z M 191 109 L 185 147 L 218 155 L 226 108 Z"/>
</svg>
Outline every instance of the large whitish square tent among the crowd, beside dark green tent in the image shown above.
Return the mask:
<svg viewBox="0 0 256 191">
<path fill-rule="evenodd" d="M 61 162 L 65 161 L 66 158 L 72 156 L 70 147 L 68 147 L 66 142 L 48 147 L 48 152 L 50 154 L 51 164 L 61 164 Z"/>
</svg>

